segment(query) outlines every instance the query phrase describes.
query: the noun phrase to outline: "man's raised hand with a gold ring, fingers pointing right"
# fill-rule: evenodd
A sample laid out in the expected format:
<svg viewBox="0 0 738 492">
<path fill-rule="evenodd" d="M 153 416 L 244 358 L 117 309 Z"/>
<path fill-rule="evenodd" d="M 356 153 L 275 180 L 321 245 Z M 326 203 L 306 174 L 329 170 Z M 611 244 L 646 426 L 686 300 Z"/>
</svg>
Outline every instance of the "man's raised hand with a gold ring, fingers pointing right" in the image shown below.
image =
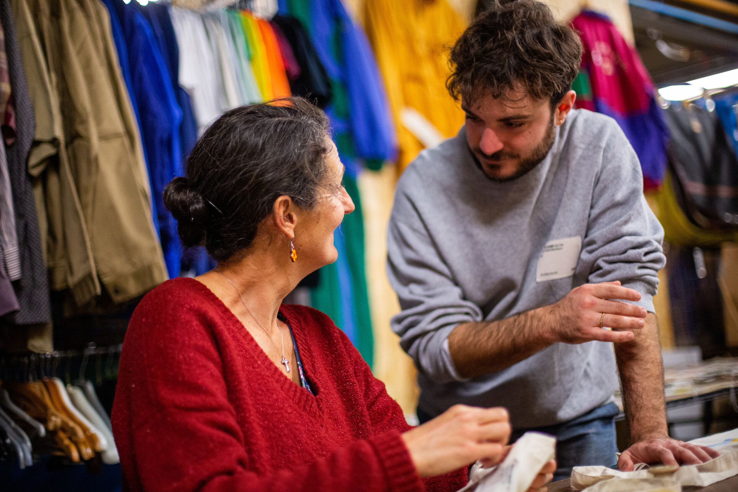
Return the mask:
<svg viewBox="0 0 738 492">
<path fill-rule="evenodd" d="M 584 342 L 629 342 L 631 331 L 644 327 L 646 310 L 640 306 L 608 299 L 638 301 L 641 294 L 621 287 L 620 282 L 588 283 L 572 289 L 551 312 L 551 342 L 581 344 Z M 602 318 L 604 313 L 604 318 Z M 604 327 L 600 328 L 600 319 Z"/>
</svg>

